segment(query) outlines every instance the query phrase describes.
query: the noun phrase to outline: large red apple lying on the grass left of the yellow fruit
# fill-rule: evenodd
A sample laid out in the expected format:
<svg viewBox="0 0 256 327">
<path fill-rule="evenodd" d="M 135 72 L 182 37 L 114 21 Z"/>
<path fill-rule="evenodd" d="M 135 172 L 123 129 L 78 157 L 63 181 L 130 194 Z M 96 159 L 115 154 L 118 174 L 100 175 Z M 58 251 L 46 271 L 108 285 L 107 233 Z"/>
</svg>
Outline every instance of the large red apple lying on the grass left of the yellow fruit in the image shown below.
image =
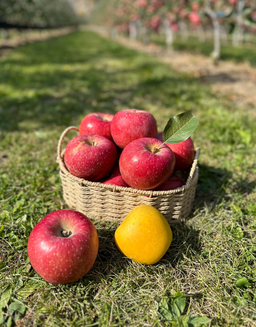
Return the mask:
<svg viewBox="0 0 256 327">
<path fill-rule="evenodd" d="M 64 229 L 72 234 L 64 237 Z M 97 231 L 88 217 L 74 210 L 57 210 L 33 228 L 27 254 L 47 282 L 65 284 L 79 280 L 91 269 L 98 247 Z"/>
</svg>

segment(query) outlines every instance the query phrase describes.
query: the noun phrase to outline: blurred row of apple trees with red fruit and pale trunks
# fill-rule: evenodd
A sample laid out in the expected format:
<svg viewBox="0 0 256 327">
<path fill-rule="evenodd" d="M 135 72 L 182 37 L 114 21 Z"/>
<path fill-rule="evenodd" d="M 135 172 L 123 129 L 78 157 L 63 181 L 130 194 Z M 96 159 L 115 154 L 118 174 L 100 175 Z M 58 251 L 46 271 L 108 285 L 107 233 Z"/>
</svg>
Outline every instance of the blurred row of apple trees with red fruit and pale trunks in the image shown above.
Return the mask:
<svg viewBox="0 0 256 327">
<path fill-rule="evenodd" d="M 256 0 L 111 0 L 108 11 L 113 35 L 126 32 L 144 42 L 161 27 L 167 45 L 173 43 L 174 32 L 187 39 L 191 29 L 203 42 L 205 27 L 212 26 L 215 58 L 220 55 L 221 36 L 232 34 L 233 45 L 238 45 L 245 31 L 256 32 Z"/>
</svg>

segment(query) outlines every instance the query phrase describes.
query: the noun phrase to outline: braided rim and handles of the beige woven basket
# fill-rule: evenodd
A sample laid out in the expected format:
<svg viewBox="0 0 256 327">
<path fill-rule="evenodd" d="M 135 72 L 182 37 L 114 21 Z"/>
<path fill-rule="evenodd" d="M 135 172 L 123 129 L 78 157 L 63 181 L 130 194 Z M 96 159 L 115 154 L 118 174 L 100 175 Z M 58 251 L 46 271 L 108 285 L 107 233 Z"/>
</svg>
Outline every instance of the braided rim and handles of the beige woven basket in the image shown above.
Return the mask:
<svg viewBox="0 0 256 327">
<path fill-rule="evenodd" d="M 57 163 L 60 166 L 60 170 L 66 175 L 66 177 L 68 177 L 69 179 L 71 179 L 73 181 L 78 182 L 81 186 L 85 185 L 85 186 L 91 186 L 91 187 L 96 187 L 96 188 L 101 188 L 101 189 L 102 188 L 108 189 L 110 191 L 113 191 L 114 193 L 125 192 L 125 193 L 129 193 L 129 194 L 133 193 L 133 194 L 139 194 L 139 195 L 147 195 L 150 198 L 152 198 L 153 196 L 159 196 L 159 195 L 173 195 L 173 194 L 177 194 L 177 193 L 184 193 L 186 190 L 190 189 L 190 187 L 192 187 L 197 182 L 197 179 L 198 179 L 197 162 L 198 162 L 198 157 L 200 154 L 200 148 L 197 148 L 195 151 L 194 161 L 192 163 L 190 174 L 189 174 L 186 184 L 183 185 L 182 187 L 176 188 L 174 190 L 169 190 L 169 191 L 140 190 L 140 189 L 136 189 L 133 187 L 123 187 L 123 186 L 117 186 L 117 185 L 113 185 L 113 184 L 102 184 L 101 182 L 97 182 L 97 181 L 87 181 L 83 178 L 76 177 L 67 170 L 65 163 L 64 163 L 64 155 L 62 155 L 62 153 L 61 153 L 61 146 L 62 146 L 64 137 L 65 137 L 66 133 L 72 129 L 75 129 L 78 131 L 78 129 L 76 127 L 70 126 L 64 130 L 64 132 L 62 133 L 62 135 L 59 139 Z"/>
</svg>

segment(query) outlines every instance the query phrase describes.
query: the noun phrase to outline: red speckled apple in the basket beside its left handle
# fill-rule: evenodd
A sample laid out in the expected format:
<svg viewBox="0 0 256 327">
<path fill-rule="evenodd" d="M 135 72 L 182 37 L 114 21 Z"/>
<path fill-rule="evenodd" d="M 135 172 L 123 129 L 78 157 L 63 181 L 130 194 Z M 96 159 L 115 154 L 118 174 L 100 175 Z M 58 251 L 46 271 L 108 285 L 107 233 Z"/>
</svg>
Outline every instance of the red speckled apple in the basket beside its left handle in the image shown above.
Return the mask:
<svg viewBox="0 0 256 327">
<path fill-rule="evenodd" d="M 95 142 L 94 146 L 91 141 Z M 97 181 L 113 168 L 116 157 L 117 150 L 113 142 L 101 135 L 84 134 L 68 143 L 64 162 L 74 176 Z"/>
</svg>

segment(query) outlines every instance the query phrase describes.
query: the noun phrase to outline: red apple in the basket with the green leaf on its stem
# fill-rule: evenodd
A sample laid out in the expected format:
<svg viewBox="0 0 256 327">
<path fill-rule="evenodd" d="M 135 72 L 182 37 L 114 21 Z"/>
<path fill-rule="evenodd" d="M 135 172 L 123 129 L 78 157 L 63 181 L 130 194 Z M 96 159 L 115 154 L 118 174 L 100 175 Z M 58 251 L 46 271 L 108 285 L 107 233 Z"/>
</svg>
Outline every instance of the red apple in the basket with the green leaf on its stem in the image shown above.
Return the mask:
<svg viewBox="0 0 256 327">
<path fill-rule="evenodd" d="M 128 185 L 140 190 L 152 190 L 172 175 L 175 165 L 173 151 L 154 138 L 141 138 L 129 143 L 120 156 L 121 175 Z"/>
</svg>

